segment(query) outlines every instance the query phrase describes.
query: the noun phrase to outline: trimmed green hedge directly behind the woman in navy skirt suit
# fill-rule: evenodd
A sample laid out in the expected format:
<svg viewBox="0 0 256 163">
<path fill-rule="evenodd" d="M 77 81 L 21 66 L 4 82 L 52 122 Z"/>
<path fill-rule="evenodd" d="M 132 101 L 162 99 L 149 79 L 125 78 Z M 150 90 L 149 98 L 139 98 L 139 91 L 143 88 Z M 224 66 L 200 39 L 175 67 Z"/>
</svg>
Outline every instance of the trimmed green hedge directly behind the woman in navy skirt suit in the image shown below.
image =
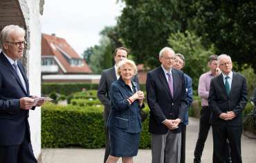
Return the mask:
<svg viewBox="0 0 256 163">
<path fill-rule="evenodd" d="M 148 107 L 145 109 L 149 112 Z M 80 146 L 86 149 L 104 147 L 103 108 L 60 106 L 46 103 L 42 107 L 42 147 Z M 150 147 L 147 118 L 140 134 L 140 149 Z"/>
</svg>

